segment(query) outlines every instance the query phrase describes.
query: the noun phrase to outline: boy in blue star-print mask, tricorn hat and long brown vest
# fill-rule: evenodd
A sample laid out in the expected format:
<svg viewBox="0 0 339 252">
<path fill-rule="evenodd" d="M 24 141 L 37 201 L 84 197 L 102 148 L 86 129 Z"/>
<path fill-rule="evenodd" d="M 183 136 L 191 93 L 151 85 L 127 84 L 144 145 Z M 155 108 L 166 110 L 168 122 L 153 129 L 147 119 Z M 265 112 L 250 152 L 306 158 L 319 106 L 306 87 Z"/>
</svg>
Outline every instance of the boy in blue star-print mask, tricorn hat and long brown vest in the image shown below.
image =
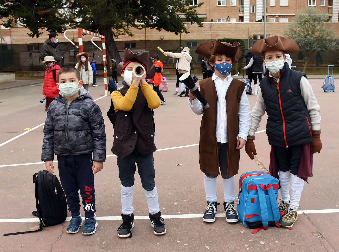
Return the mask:
<svg viewBox="0 0 339 252">
<path fill-rule="evenodd" d="M 203 114 L 199 141 L 200 169 L 205 173 L 207 199 L 203 221 L 215 221 L 219 205 L 217 176 L 221 173 L 226 221 L 237 222 L 239 217 L 234 208 L 235 175 L 239 169 L 240 149 L 246 143 L 251 126 L 245 83 L 233 79 L 230 73 L 241 57 L 241 50 L 239 42 L 232 45 L 212 40 L 200 44 L 196 53 L 205 57 L 214 70 L 212 77 L 199 82 L 200 92 L 210 107 L 205 109 L 191 91 L 188 99 L 192 111 Z"/>
</svg>

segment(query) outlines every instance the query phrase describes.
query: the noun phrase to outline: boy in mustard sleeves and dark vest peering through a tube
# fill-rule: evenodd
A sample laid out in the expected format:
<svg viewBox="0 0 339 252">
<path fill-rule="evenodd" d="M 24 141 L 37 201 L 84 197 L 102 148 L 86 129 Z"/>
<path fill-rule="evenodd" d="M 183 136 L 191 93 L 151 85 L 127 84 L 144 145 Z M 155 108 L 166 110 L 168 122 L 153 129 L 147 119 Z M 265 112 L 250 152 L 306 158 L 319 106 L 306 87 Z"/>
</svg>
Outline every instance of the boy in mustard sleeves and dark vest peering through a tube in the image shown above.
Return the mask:
<svg viewBox="0 0 339 252">
<path fill-rule="evenodd" d="M 136 65 L 145 69 L 142 77 L 136 77 L 133 73 Z M 121 181 L 123 223 L 118 228 L 118 237 L 132 237 L 135 163 L 138 164 L 138 173 L 146 194 L 153 232 L 162 235 L 166 233 L 166 229 L 162 222 L 164 219 L 160 217 L 153 159 L 153 152 L 157 149 L 154 144 L 153 109 L 159 107 L 160 99 L 145 80 L 154 77 L 154 64 L 148 57 L 148 52 L 134 54 L 125 49 L 124 62 L 118 65 L 118 72 L 124 78 L 123 88 L 112 92 L 111 108 L 107 112 L 114 127 L 112 152 L 118 157 Z"/>
</svg>

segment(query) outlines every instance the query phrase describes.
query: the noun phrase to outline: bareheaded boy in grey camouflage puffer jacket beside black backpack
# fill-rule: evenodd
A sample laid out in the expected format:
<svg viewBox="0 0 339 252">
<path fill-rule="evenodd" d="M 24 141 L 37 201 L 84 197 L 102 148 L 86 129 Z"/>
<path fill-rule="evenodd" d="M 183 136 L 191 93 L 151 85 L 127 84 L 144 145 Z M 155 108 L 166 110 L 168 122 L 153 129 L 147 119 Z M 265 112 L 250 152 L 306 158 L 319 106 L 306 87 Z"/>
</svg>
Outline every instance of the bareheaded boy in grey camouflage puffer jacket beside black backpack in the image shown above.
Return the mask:
<svg viewBox="0 0 339 252">
<path fill-rule="evenodd" d="M 82 88 L 77 69 L 63 67 L 58 80 L 60 94 L 48 106 L 41 160 L 46 162 L 47 171 L 53 173 L 53 152 L 57 155 L 61 185 L 72 213 L 66 232 L 77 233 L 83 224 L 80 189 L 85 210 L 82 234 L 94 234 L 98 226 L 94 214 L 94 174 L 102 169 L 106 158 L 104 120 L 99 106 Z"/>
</svg>

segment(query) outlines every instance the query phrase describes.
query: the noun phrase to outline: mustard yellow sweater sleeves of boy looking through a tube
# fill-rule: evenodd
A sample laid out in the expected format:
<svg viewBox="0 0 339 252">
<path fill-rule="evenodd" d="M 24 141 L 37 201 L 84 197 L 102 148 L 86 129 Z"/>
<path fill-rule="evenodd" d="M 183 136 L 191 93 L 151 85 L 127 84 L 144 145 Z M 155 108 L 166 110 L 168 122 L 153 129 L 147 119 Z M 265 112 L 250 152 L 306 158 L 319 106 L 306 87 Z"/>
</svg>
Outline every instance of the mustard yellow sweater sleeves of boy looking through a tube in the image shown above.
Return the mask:
<svg viewBox="0 0 339 252">
<path fill-rule="evenodd" d="M 140 87 L 142 93 L 147 100 L 148 108 L 158 108 L 160 106 L 160 98 L 158 94 L 147 83 L 142 84 Z M 123 96 L 119 91 L 113 91 L 111 94 L 111 99 L 114 104 L 115 112 L 117 112 L 118 110 L 131 110 L 137 98 L 138 90 L 139 87 L 131 85 L 127 90 L 125 96 Z"/>
</svg>

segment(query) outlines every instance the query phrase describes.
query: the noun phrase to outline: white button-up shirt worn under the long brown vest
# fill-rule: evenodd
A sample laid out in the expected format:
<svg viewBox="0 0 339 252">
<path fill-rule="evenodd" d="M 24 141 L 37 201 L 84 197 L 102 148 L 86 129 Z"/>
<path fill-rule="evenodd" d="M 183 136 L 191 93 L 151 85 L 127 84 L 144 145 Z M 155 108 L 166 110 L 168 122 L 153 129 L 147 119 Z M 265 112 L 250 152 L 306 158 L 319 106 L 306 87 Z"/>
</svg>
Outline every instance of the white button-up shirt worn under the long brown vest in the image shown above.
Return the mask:
<svg viewBox="0 0 339 252">
<path fill-rule="evenodd" d="M 217 141 L 227 143 L 227 101 L 225 101 L 225 96 L 233 78 L 231 74 L 229 74 L 224 81 L 222 81 L 215 73 L 213 73 L 212 80 L 214 81 L 218 97 L 216 128 Z M 201 115 L 203 113 L 203 105 L 198 99 L 191 100 L 188 98 L 188 104 L 190 104 L 192 111 L 197 115 Z M 206 110 L 206 112 L 208 112 L 208 110 Z M 248 102 L 246 90 L 244 89 L 239 103 L 239 134 L 237 135 L 237 139 L 241 137 L 242 139 L 247 140 L 248 131 L 251 127 L 250 114 L 250 103 Z"/>
</svg>

